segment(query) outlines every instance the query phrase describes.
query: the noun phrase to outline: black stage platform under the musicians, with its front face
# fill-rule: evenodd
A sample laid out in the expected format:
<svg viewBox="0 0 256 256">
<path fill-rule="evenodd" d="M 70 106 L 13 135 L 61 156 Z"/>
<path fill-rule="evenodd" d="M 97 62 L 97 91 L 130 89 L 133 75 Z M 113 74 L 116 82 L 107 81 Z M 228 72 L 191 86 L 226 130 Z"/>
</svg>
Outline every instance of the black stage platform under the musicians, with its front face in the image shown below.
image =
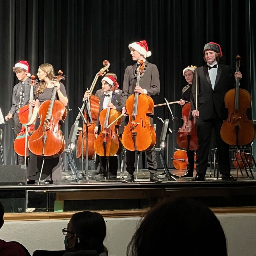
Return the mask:
<svg viewBox="0 0 256 256">
<path fill-rule="evenodd" d="M 162 170 L 158 171 L 160 174 Z M 181 176 L 184 170 L 170 170 Z M 232 169 L 233 176 L 237 171 Z M 69 171 L 66 172 L 69 174 Z M 135 173 L 136 174 L 136 173 Z M 195 174 L 195 172 L 194 172 Z M 118 172 L 117 177 L 120 175 Z M 124 172 L 126 177 L 127 172 Z M 143 210 L 166 198 L 191 197 L 204 202 L 209 207 L 254 207 L 256 206 L 256 180 L 241 176 L 237 181 L 222 181 L 221 177 L 209 177 L 205 181 L 191 181 L 178 178 L 178 181 L 163 179 L 162 183 L 149 181 L 149 172 L 139 170 L 138 181 L 122 183 L 120 178 L 107 181 L 81 180 L 80 184 L 66 178 L 54 181 L 52 185 L 19 185 L 0 186 L 1 198 L 12 198 L 11 212 L 56 212 L 81 210 Z M 24 197 L 22 206 L 13 203 L 13 195 Z M 20 196 L 21 195 L 21 196 Z M 14 206 L 13 206 L 14 205 Z"/>
</svg>

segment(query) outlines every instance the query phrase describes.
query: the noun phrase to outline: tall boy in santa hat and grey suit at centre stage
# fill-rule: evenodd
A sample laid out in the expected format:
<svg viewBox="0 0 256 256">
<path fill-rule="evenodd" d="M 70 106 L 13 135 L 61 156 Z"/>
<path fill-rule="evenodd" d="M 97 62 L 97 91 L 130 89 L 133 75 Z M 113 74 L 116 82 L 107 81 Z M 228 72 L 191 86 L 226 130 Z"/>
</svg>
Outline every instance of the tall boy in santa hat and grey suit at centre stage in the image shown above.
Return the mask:
<svg viewBox="0 0 256 256">
<path fill-rule="evenodd" d="M 148 51 L 148 45 L 145 40 L 140 42 L 134 42 L 129 44 L 130 54 L 132 60 L 136 61 L 134 65 L 130 65 L 125 69 L 124 72 L 124 81 L 123 81 L 123 92 L 121 95 L 121 105 L 122 113 L 126 113 L 125 103 L 127 98 L 132 95 L 134 92 L 143 93 L 150 97 L 158 95 L 160 93 L 160 80 L 159 72 L 156 65 L 149 63 L 146 59 L 151 56 L 151 52 Z M 136 69 L 137 65 L 143 60 L 145 63 L 144 70 L 140 78 L 140 86 L 136 86 L 137 74 Z M 126 118 L 126 123 L 128 122 Z M 150 116 L 150 123 L 153 126 L 153 115 Z M 157 175 L 157 162 L 156 162 L 156 151 L 155 147 L 147 150 L 147 161 L 148 161 L 148 170 L 150 172 L 150 181 L 151 182 L 162 182 Z M 134 182 L 134 163 L 135 163 L 135 152 L 126 150 L 126 171 L 128 176 L 123 180 L 123 182 Z"/>
</svg>

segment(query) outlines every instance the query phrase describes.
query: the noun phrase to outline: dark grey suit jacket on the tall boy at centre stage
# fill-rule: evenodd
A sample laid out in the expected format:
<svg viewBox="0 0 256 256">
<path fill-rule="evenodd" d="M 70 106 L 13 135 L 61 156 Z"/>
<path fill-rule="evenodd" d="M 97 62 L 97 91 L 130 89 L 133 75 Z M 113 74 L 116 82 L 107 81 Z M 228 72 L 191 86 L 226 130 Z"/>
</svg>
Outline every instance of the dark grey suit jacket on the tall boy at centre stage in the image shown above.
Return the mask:
<svg viewBox="0 0 256 256">
<path fill-rule="evenodd" d="M 125 102 L 127 98 L 134 93 L 134 88 L 136 85 L 136 74 L 137 63 L 133 66 L 130 65 L 125 69 L 124 81 L 121 95 L 121 105 L 122 108 L 125 107 Z M 160 93 L 160 80 L 159 72 L 156 65 L 145 61 L 145 69 L 140 77 L 140 87 L 147 90 L 148 96 L 155 96 Z"/>
</svg>

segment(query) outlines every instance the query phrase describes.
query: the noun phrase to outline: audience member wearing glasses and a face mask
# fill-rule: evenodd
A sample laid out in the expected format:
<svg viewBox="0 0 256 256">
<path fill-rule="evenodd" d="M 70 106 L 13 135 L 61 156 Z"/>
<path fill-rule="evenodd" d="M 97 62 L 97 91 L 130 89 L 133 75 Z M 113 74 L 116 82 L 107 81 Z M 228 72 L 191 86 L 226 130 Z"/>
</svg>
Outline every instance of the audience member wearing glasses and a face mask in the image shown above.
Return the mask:
<svg viewBox="0 0 256 256">
<path fill-rule="evenodd" d="M 103 245 L 106 236 L 106 224 L 98 212 L 75 213 L 63 229 L 66 253 L 63 256 L 100 255 L 107 256 Z"/>
</svg>

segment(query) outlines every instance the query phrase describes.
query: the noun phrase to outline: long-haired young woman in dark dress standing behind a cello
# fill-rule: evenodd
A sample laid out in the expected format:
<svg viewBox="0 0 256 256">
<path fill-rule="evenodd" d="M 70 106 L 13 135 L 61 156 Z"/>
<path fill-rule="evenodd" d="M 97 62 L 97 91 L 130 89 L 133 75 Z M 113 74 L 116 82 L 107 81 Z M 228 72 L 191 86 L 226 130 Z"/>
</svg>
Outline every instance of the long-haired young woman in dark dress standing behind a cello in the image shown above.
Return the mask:
<svg viewBox="0 0 256 256">
<path fill-rule="evenodd" d="M 28 126 L 33 123 L 33 120 L 38 117 L 38 109 L 40 104 L 46 100 L 51 100 L 53 88 L 57 87 L 56 100 L 59 100 L 64 106 L 68 104 L 65 87 L 62 83 L 52 80 L 55 77 L 55 72 L 51 64 L 44 63 L 39 66 L 38 73 L 39 85 L 36 88 L 36 105 L 33 109 L 33 114 L 28 122 Z M 35 129 L 40 125 L 40 119 L 36 119 Z M 28 184 L 34 184 L 35 180 L 39 179 L 43 158 L 38 157 L 30 152 L 28 162 Z M 45 159 L 41 180 L 46 180 L 45 184 L 52 184 L 53 180 L 61 179 L 61 157 Z"/>
</svg>

